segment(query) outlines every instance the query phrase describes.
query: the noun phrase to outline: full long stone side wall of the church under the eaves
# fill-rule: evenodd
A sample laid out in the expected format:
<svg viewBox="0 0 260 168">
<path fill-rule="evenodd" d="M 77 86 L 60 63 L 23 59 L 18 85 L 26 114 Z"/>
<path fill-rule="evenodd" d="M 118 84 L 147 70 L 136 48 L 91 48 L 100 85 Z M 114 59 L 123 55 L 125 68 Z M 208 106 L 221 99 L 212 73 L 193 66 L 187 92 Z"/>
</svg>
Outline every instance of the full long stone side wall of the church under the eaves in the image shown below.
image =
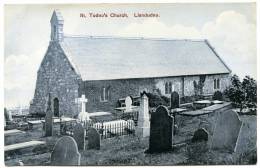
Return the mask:
<svg viewBox="0 0 260 168">
<path fill-rule="evenodd" d="M 221 87 L 219 90 L 223 92 L 229 84 L 228 77 L 228 74 L 207 75 L 203 94 L 213 94 L 216 91 L 214 90 L 215 78 L 220 79 Z M 198 82 L 199 76 L 84 81 L 80 86 L 79 95 L 85 94 L 88 98 L 86 104 L 88 112 L 114 112 L 120 98 L 139 96 L 142 91 L 170 97 L 170 94 L 165 94 L 166 82 L 172 82 L 173 91 L 177 91 L 181 97 L 183 94 L 184 96 L 192 96 L 195 93 L 193 81 Z M 107 101 L 101 101 L 103 88 L 109 89 Z"/>
</svg>

